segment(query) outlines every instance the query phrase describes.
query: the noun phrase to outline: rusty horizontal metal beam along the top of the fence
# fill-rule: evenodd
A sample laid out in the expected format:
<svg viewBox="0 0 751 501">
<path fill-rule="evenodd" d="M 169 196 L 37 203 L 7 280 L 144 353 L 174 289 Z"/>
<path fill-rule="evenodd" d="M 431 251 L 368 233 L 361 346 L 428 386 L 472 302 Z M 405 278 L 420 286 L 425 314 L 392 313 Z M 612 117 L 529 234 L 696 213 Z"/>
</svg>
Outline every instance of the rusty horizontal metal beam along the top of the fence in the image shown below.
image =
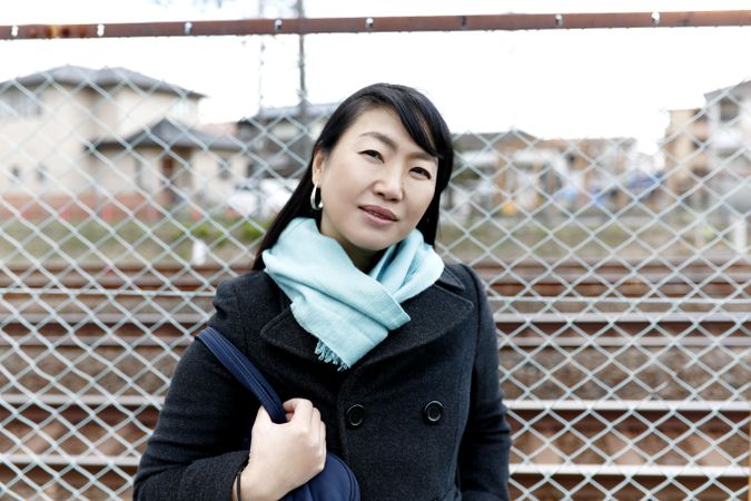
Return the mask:
<svg viewBox="0 0 751 501">
<path fill-rule="evenodd" d="M 0 26 L 0 40 L 739 26 L 751 26 L 751 10 L 279 18 L 91 24 L 6 24 Z"/>
</svg>

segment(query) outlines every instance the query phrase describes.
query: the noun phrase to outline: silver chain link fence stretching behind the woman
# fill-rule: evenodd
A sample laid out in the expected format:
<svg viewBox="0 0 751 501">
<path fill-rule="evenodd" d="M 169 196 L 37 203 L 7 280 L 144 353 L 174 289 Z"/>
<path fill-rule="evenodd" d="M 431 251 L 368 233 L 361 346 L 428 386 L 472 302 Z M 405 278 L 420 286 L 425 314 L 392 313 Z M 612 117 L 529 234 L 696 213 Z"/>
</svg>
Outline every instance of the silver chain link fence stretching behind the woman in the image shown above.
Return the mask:
<svg viewBox="0 0 751 501">
<path fill-rule="evenodd" d="M 600 36 L 611 47 L 607 37 L 643 33 Z M 389 37 L 404 52 L 389 56 L 402 68 L 394 79 L 415 78 L 412 65 L 462 81 L 484 78 L 492 51 L 513 56 L 543 33 Z M 441 38 L 481 66 L 425 55 Z M 385 42 L 307 36 L 302 95 L 327 96 L 349 62 L 358 72 L 359 62 L 330 58 L 349 43 L 370 61 L 355 80 L 383 80 L 388 70 L 372 66 Z M 27 61 L 29 71 L 3 70 L 0 81 L 0 499 L 131 494 L 216 286 L 248 267 L 335 99 L 360 87 L 289 99 L 298 62 L 277 55 L 297 50 L 290 36 L 0 42 L 2 53 L 61 61 Z M 571 78 L 586 86 L 595 71 Z M 221 82 L 214 96 L 191 85 L 206 73 Z M 271 106 L 284 91 L 293 105 Z M 535 102 L 500 92 L 484 99 L 515 119 L 481 131 L 470 114 L 454 127 L 437 247 L 487 284 L 514 433 L 513 499 L 748 497 L 751 82 L 703 91 L 694 108 L 663 106 L 646 147 L 636 132 L 535 132 L 525 126 Z M 454 92 L 468 100 L 472 86 Z M 661 98 L 669 102 L 652 99 Z M 211 118 L 206 102 L 236 118 Z"/>
</svg>

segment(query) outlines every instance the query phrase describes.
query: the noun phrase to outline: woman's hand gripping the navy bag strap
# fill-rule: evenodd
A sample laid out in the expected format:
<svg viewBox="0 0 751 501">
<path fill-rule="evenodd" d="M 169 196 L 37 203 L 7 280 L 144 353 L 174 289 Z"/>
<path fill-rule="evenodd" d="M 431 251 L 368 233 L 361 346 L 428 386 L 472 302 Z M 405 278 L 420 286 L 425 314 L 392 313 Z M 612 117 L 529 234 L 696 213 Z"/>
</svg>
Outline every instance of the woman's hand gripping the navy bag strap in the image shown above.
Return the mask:
<svg viewBox="0 0 751 501">
<path fill-rule="evenodd" d="M 324 469 L 326 425 L 309 400 L 284 403 L 287 422 L 275 424 L 258 409 L 250 438 L 250 456 L 243 471 L 243 501 L 278 500 Z"/>
</svg>

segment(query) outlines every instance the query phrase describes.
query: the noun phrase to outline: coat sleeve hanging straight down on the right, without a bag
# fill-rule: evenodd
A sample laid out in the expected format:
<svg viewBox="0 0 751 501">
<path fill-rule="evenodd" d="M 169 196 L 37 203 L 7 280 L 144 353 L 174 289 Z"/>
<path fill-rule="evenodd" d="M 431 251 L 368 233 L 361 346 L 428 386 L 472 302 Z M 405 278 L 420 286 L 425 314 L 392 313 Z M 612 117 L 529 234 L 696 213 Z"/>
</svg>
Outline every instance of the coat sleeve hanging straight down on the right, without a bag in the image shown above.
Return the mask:
<svg viewBox="0 0 751 501">
<path fill-rule="evenodd" d="M 472 395 L 467 426 L 460 448 L 460 482 L 464 501 L 508 500 L 508 451 L 511 430 L 498 384 L 498 345 L 495 322 L 477 275 L 477 350 L 472 371 Z"/>
</svg>

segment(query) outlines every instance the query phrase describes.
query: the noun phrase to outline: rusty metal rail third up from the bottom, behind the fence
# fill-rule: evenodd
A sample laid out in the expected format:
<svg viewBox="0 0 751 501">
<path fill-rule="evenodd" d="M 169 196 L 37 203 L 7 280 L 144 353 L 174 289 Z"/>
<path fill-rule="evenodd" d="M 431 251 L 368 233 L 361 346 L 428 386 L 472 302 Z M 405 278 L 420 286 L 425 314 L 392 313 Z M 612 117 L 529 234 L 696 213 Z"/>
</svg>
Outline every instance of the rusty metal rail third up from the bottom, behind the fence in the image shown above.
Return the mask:
<svg viewBox="0 0 751 501">
<path fill-rule="evenodd" d="M 139 346 L 169 341 L 187 345 L 184 334 L 196 333 L 210 313 L 174 313 L 167 321 L 160 313 L 23 313 L 0 322 L 0 330 L 10 337 L 0 338 L 0 346 L 10 344 L 42 345 L 39 335 L 56 346 L 80 346 L 96 342 L 98 346 L 122 346 L 138 341 Z M 513 333 L 507 346 L 586 346 L 586 345 L 695 345 L 751 346 L 751 316 L 738 314 L 623 314 L 597 316 L 508 315 L 495 314 L 496 327 Z M 176 326 L 180 325 L 181 327 Z M 75 330 L 75 334 L 72 331 Z M 607 335 L 604 333 L 607 332 Z M 21 336 L 34 336 L 18 340 Z M 145 335 L 148 334 L 148 338 Z M 590 336 L 597 335 L 595 340 Z M 636 337 L 634 337 L 636 336 Z M 18 340 L 12 341 L 11 338 Z"/>
</svg>

